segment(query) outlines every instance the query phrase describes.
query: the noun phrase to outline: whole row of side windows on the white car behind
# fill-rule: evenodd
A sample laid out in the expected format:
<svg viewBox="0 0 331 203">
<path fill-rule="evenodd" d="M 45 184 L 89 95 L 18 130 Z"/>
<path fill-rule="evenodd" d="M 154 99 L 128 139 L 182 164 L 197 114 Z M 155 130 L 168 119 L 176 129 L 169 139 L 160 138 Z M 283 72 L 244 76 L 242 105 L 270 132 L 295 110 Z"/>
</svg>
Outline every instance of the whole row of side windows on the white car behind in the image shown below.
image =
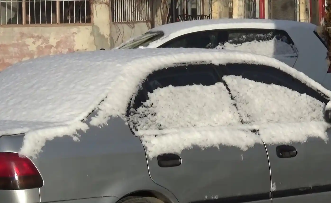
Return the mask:
<svg viewBox="0 0 331 203">
<path fill-rule="evenodd" d="M 293 55 L 298 51 L 283 30 L 218 29 L 193 32 L 176 37 L 161 48 L 206 48 L 246 51 L 262 55 Z"/>
</svg>

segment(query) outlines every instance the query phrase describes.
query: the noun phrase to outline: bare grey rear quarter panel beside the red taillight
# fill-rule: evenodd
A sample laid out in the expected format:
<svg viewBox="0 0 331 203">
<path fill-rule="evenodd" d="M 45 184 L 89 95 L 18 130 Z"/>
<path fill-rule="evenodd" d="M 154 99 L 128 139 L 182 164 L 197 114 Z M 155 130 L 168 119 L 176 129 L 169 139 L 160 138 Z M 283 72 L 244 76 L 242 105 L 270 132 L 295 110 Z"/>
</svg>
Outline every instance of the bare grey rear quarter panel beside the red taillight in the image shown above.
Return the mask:
<svg viewBox="0 0 331 203">
<path fill-rule="evenodd" d="M 145 149 L 122 119 L 112 118 L 108 125 L 90 127 L 80 135 L 79 142 L 69 136 L 47 141 L 43 152 L 32 160 L 44 179 L 41 202 L 121 198 L 139 190 L 158 191 L 177 201 L 168 190 L 152 181 Z M 0 151 L 19 151 L 23 137 L 7 136 L 6 144 L 2 144 L 4 139 L 0 137 Z M 93 202 L 102 202 L 98 199 Z"/>
</svg>

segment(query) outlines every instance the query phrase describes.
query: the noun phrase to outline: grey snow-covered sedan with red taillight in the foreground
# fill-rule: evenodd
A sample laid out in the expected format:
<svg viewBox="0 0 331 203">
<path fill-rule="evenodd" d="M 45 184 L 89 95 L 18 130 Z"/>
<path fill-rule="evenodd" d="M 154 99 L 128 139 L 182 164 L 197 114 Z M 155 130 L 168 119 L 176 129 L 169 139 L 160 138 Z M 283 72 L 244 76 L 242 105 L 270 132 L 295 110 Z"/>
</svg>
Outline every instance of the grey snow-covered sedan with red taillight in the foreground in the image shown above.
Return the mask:
<svg viewBox="0 0 331 203">
<path fill-rule="evenodd" d="M 274 58 L 47 56 L 2 71 L 0 95 L 3 203 L 331 199 L 331 92 Z"/>
</svg>

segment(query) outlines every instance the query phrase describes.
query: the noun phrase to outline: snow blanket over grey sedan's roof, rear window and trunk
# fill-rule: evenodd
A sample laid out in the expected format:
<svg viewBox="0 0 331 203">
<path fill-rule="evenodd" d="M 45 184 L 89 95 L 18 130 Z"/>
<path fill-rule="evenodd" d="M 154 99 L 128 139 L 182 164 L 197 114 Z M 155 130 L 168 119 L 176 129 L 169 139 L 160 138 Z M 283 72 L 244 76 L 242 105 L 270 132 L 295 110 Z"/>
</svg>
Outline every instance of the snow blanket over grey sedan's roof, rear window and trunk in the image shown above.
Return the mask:
<svg viewBox="0 0 331 203">
<path fill-rule="evenodd" d="M 83 120 L 95 108 L 97 116 L 89 125 L 105 124 L 111 116 L 124 118 L 132 95 L 151 72 L 201 61 L 272 66 L 331 96 L 285 63 L 246 52 L 195 48 L 76 52 L 20 62 L 0 73 L 0 135 L 26 133 L 19 153 L 35 157 L 46 140 L 63 135 L 78 139 L 74 134 L 88 129 Z"/>
</svg>

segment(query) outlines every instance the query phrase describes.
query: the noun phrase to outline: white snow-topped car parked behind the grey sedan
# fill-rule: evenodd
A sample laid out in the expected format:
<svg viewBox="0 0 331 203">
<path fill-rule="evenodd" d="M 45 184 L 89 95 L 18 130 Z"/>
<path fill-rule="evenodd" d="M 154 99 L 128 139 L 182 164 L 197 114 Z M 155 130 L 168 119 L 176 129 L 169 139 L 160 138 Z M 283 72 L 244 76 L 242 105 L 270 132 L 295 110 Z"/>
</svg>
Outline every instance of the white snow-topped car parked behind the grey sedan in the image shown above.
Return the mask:
<svg viewBox="0 0 331 203">
<path fill-rule="evenodd" d="M 276 58 L 331 90 L 327 48 L 310 23 L 268 19 L 214 19 L 152 28 L 116 49 L 209 48 L 247 51 Z"/>
</svg>

